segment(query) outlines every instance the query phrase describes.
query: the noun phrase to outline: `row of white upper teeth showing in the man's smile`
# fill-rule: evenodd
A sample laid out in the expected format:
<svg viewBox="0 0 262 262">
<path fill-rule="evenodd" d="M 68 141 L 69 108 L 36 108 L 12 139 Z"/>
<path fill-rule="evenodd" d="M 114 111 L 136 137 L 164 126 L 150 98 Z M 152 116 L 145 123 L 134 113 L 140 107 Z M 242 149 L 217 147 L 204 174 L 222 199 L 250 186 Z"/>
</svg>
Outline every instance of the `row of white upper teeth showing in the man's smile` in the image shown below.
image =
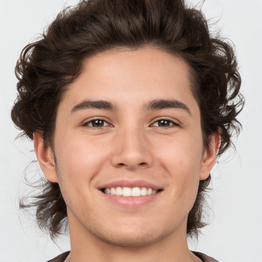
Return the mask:
<svg viewBox="0 0 262 262">
<path fill-rule="evenodd" d="M 123 195 L 123 197 L 140 197 L 140 195 L 151 195 L 158 192 L 157 189 L 146 188 L 146 187 L 110 187 L 105 188 L 106 194 Z"/>
</svg>

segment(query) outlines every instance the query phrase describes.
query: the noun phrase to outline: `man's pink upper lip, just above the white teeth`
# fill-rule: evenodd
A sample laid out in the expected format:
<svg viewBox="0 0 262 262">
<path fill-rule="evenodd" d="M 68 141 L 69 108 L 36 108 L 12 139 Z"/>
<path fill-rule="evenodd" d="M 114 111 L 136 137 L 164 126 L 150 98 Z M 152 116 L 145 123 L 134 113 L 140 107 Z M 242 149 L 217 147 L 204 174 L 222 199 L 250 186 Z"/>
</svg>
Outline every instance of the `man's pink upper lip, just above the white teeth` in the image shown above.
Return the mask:
<svg viewBox="0 0 262 262">
<path fill-rule="evenodd" d="M 110 187 L 150 187 L 152 189 L 162 189 L 160 186 L 157 186 L 154 183 L 151 183 L 149 181 L 145 181 L 145 180 L 115 180 L 112 182 L 108 182 L 106 184 L 103 184 L 102 186 L 99 186 L 99 189 L 103 189 L 103 188 L 110 188 Z"/>
</svg>

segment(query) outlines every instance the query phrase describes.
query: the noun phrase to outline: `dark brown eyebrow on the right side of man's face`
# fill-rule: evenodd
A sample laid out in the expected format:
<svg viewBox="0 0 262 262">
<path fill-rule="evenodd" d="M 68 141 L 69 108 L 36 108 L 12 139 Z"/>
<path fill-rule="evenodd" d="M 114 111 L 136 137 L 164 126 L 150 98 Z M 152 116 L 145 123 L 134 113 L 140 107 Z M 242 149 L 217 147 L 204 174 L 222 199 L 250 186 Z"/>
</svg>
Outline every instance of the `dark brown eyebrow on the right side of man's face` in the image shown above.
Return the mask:
<svg viewBox="0 0 262 262">
<path fill-rule="evenodd" d="M 175 99 L 152 100 L 145 105 L 144 110 L 149 111 L 149 110 L 161 110 L 161 109 L 168 109 L 168 108 L 178 108 L 178 109 L 185 110 L 191 116 L 191 111 L 189 110 L 189 107 L 186 104 Z"/>
</svg>

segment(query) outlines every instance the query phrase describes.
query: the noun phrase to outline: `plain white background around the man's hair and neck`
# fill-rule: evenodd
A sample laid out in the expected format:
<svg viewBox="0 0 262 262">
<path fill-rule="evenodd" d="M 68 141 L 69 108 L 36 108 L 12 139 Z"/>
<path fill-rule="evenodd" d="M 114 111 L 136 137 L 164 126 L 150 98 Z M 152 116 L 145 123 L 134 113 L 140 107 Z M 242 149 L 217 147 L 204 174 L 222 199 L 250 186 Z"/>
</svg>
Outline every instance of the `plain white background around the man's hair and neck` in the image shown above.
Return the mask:
<svg viewBox="0 0 262 262">
<path fill-rule="evenodd" d="M 110 0 L 108 0 L 110 1 Z M 32 143 L 14 140 L 10 111 L 15 99 L 15 62 L 58 11 L 77 1 L 0 0 L 0 262 L 44 262 L 70 249 L 68 237 L 56 246 L 18 211 L 23 172 L 34 159 Z M 193 1 L 197 3 L 197 1 Z M 199 250 L 221 262 L 262 261 L 262 0 L 207 0 L 203 11 L 236 46 L 246 106 L 236 154 L 227 154 L 212 172 L 209 219 Z M 34 172 L 34 169 L 29 169 Z"/>
</svg>

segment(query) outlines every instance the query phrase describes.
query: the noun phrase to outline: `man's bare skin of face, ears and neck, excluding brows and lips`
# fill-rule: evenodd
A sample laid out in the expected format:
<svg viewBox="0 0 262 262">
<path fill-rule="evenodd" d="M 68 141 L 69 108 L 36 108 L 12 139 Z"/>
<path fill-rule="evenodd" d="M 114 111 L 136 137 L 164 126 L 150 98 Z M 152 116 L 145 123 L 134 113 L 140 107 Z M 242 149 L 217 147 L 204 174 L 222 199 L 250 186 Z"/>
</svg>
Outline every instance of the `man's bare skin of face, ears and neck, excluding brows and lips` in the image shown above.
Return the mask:
<svg viewBox="0 0 262 262">
<path fill-rule="evenodd" d="M 41 169 L 59 184 L 67 204 L 68 261 L 201 261 L 188 250 L 187 216 L 199 181 L 215 163 L 220 136 L 212 135 L 209 148 L 203 147 L 186 62 L 144 48 L 103 52 L 83 65 L 58 106 L 53 149 L 34 134 Z M 188 110 L 145 110 L 156 99 L 177 100 Z M 77 106 L 84 100 L 117 108 Z M 104 126 L 92 127 L 94 119 Z M 99 190 L 120 179 L 162 190 L 146 204 L 122 206 Z"/>
</svg>

